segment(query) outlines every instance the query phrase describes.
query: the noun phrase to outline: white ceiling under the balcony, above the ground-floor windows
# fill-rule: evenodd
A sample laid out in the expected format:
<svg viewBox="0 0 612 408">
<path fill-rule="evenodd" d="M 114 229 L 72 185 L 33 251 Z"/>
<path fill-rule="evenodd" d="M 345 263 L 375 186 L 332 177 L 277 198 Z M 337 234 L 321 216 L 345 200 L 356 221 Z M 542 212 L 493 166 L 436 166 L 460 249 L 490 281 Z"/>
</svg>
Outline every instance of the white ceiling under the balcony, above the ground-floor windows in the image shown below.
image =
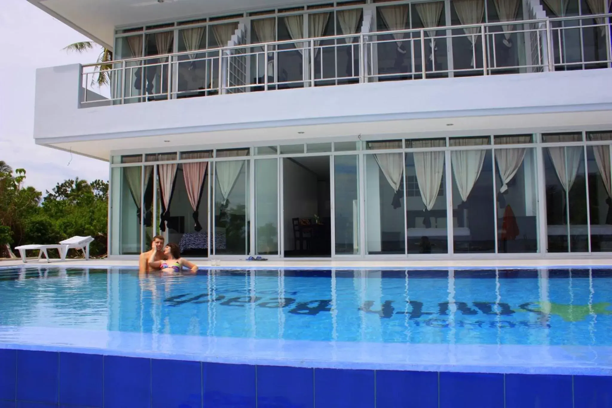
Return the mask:
<svg viewBox="0 0 612 408">
<path fill-rule="evenodd" d="M 435 136 L 479 136 L 516 133 L 556 132 L 567 130 L 610 130 L 611 111 L 573 113 L 520 114 L 441 119 L 412 119 L 386 122 L 351 122 L 300 127 L 251 128 L 223 132 L 183 133 L 161 136 L 100 138 L 90 141 L 54 140 L 48 146 L 71 150 L 76 154 L 108 160 L 111 151 L 129 154 L 304 143 L 334 138 L 335 141 L 385 138 L 427 138 Z M 449 125 L 452 124 L 452 125 Z M 304 132 L 304 133 L 299 133 Z M 319 139 L 319 140 L 317 140 Z M 37 139 L 45 144 L 45 139 Z"/>
</svg>

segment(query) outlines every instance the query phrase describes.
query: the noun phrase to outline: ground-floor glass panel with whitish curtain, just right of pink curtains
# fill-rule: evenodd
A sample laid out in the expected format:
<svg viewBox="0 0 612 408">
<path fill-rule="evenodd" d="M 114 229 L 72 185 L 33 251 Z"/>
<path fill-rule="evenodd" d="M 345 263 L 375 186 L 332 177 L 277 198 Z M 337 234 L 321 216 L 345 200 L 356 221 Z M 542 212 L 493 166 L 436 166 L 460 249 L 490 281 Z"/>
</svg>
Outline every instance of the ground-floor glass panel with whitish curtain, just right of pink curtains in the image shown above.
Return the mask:
<svg viewBox="0 0 612 408">
<path fill-rule="evenodd" d="M 215 163 L 215 254 L 249 252 L 248 161 Z"/>
</svg>

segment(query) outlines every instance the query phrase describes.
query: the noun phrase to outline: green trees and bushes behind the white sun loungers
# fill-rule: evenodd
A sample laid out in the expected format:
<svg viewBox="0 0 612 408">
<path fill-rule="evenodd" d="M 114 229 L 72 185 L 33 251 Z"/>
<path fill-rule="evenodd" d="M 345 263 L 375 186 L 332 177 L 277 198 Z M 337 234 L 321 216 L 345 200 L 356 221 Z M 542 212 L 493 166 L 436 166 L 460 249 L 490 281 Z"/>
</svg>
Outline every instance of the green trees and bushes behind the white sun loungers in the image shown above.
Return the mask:
<svg viewBox="0 0 612 408">
<path fill-rule="evenodd" d="M 34 187 L 27 187 L 25 179 L 24 169 L 13 172 L 0 161 L 0 251 L 4 243 L 14 248 L 58 243 L 78 235 L 94 237 L 92 255 L 106 254 L 108 183 L 65 180 L 43 197 Z"/>
</svg>

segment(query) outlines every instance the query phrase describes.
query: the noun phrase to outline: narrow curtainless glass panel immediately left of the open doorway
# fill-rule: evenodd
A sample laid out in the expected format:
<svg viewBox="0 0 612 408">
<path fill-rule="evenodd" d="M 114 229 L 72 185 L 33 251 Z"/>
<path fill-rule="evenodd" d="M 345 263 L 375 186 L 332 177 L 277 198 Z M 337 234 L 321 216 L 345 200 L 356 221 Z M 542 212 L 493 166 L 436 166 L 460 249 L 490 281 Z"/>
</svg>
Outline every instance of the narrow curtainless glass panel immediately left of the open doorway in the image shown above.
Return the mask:
<svg viewBox="0 0 612 408">
<path fill-rule="evenodd" d="M 278 159 L 255 160 L 255 248 L 278 254 Z"/>
</svg>

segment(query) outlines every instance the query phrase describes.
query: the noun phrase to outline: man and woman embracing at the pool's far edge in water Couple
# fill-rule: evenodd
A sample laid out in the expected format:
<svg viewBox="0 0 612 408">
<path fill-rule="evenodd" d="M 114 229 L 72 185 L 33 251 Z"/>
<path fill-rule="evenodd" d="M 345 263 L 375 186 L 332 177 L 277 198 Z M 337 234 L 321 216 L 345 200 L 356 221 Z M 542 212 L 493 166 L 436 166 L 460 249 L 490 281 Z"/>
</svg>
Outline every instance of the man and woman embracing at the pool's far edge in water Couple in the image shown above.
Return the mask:
<svg viewBox="0 0 612 408">
<path fill-rule="evenodd" d="M 183 268 L 190 269 L 191 272 L 198 271 L 198 265 L 181 258 L 181 249 L 176 243 L 169 243 L 164 247 L 164 241 L 160 235 L 153 237 L 151 251 L 140 254 L 140 272 L 181 272 Z"/>
</svg>

